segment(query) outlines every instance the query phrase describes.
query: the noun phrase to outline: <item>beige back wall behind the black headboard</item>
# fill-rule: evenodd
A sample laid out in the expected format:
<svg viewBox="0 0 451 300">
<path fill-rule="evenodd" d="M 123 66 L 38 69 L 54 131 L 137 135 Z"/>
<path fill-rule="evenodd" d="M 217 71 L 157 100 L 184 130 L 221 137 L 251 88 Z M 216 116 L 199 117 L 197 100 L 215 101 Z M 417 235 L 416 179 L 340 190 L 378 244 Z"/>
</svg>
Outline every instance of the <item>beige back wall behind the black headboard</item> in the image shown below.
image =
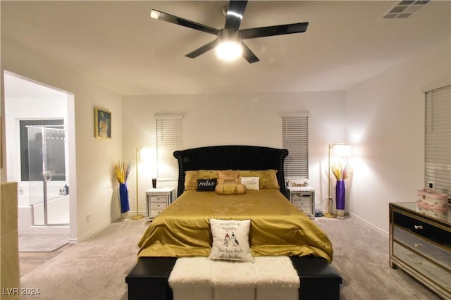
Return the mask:
<svg viewBox="0 0 451 300">
<path fill-rule="evenodd" d="M 280 115 L 308 112 L 309 182 L 316 189 L 318 208 L 327 196 L 328 144 L 345 139 L 345 93 L 306 92 L 284 94 L 221 94 L 173 96 L 123 96 L 123 154 L 135 169 L 136 147 L 155 147 L 158 114 L 180 114 L 183 118 L 183 148 L 219 144 L 282 146 Z M 175 159 L 175 158 L 174 158 Z M 147 168 L 154 168 L 152 165 Z M 150 171 L 140 165 L 139 210 L 144 191 L 151 187 Z M 135 196 L 134 174 L 129 185 Z M 176 183 L 172 182 L 175 187 Z M 136 210 L 136 201 L 130 210 Z"/>
</svg>

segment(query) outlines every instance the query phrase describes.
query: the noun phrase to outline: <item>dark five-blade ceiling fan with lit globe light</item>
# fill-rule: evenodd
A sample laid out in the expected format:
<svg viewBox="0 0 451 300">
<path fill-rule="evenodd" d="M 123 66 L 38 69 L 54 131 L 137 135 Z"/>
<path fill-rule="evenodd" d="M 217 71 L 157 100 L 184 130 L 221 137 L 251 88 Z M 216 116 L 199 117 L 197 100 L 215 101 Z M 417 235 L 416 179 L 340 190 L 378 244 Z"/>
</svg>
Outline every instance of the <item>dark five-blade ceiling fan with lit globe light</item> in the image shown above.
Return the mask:
<svg viewBox="0 0 451 300">
<path fill-rule="evenodd" d="M 221 30 L 207 25 L 195 23 L 184 18 L 171 15 L 169 13 L 163 13 L 162 11 L 156 11 L 152 9 L 150 17 L 156 20 L 163 20 L 169 23 L 190 27 L 194 30 L 216 35 L 216 39 L 199 47 L 198 49 L 185 55 L 189 58 L 195 58 L 206 51 L 214 49 L 216 46 L 223 45 L 223 42 L 232 42 L 237 47 L 237 56 L 242 56 L 249 63 L 256 63 L 260 61 L 259 58 L 252 52 L 249 47 L 242 42 L 242 39 L 254 39 L 256 37 L 270 37 L 272 35 L 288 35 L 290 33 L 305 32 L 309 23 L 293 23 L 285 25 L 274 25 L 267 27 L 257 27 L 240 29 L 243 15 L 245 14 L 247 1 L 230 1 L 225 9 L 226 13 L 226 25 Z M 218 48 L 218 47 L 217 47 Z M 217 49 L 218 51 L 220 49 Z M 226 50 L 226 54 L 230 54 L 232 50 Z"/>
</svg>

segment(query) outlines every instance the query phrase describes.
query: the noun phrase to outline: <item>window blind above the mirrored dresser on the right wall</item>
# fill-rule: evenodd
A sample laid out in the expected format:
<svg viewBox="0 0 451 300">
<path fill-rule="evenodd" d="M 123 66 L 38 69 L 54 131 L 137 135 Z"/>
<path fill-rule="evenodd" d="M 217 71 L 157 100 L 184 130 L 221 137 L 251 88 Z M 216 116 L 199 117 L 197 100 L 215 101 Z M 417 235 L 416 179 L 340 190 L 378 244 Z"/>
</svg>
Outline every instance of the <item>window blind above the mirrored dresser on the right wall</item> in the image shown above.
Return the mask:
<svg viewBox="0 0 451 300">
<path fill-rule="evenodd" d="M 426 92 L 424 186 L 451 199 L 451 85 Z"/>
</svg>

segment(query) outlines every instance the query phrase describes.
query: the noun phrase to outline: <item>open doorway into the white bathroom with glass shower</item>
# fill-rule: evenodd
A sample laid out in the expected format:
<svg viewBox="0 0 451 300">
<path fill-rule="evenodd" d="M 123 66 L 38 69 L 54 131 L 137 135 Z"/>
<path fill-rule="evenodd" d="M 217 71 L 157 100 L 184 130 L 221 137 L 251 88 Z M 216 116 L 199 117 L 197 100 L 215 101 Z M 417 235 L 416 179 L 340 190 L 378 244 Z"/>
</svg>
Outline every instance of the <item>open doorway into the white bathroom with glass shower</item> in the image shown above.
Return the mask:
<svg viewBox="0 0 451 300">
<path fill-rule="evenodd" d="M 71 147 L 66 137 L 73 130 L 68 125 L 73 95 L 8 71 L 4 93 L 7 180 L 18 182 L 19 235 L 69 239 L 75 199 L 68 193 Z"/>
</svg>

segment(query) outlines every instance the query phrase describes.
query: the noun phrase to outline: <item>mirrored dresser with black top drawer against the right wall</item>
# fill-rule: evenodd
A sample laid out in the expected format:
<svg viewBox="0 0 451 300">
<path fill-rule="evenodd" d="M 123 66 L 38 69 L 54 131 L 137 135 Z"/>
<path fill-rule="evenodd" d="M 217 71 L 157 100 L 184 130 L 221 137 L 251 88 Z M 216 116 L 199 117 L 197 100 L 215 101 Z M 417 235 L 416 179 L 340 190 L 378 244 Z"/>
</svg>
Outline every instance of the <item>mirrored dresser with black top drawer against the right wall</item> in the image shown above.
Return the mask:
<svg viewBox="0 0 451 300">
<path fill-rule="evenodd" d="M 451 299 L 451 208 L 416 202 L 389 204 L 390 267 L 400 268 L 433 292 Z"/>
</svg>

